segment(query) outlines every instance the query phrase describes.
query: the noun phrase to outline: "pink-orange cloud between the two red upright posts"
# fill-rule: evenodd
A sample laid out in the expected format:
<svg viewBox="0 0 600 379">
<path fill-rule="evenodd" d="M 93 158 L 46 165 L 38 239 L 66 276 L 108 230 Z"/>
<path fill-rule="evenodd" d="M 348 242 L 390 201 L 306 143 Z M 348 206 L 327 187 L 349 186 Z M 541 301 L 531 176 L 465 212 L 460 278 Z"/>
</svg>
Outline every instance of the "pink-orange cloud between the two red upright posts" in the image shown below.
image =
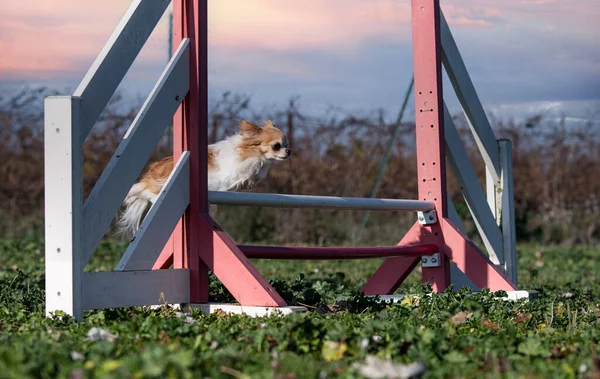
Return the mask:
<svg viewBox="0 0 600 379">
<path fill-rule="evenodd" d="M 410 4 L 391 0 L 209 2 L 213 46 L 347 49 L 371 36 L 410 39 Z"/>
</svg>

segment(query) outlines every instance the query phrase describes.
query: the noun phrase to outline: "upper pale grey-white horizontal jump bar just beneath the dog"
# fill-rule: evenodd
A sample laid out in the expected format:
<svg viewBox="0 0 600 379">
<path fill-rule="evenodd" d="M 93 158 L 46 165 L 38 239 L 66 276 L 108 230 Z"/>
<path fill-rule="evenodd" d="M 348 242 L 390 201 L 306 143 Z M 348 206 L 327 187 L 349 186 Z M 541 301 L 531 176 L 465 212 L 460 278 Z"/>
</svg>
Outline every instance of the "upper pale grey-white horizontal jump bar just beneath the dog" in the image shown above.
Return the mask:
<svg viewBox="0 0 600 379">
<path fill-rule="evenodd" d="M 261 205 L 279 208 L 330 208 L 372 211 L 422 211 L 435 208 L 432 201 L 404 199 L 369 199 L 364 197 L 334 197 L 208 191 L 208 202 L 228 205 Z"/>
</svg>

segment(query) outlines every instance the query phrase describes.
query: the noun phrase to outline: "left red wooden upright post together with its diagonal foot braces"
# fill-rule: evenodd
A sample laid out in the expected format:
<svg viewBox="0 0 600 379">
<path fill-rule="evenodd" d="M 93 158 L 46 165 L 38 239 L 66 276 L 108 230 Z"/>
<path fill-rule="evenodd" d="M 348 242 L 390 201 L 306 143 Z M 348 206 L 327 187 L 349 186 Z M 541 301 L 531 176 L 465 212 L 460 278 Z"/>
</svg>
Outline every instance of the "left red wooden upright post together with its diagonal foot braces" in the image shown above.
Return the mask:
<svg viewBox="0 0 600 379">
<path fill-rule="evenodd" d="M 208 301 L 208 269 L 243 305 L 280 306 L 285 301 L 208 215 L 207 4 L 179 0 L 173 7 L 174 46 L 190 39 L 190 91 L 174 117 L 173 155 L 190 152 L 190 205 L 155 268 L 174 262 L 190 269 L 190 302 Z"/>
</svg>

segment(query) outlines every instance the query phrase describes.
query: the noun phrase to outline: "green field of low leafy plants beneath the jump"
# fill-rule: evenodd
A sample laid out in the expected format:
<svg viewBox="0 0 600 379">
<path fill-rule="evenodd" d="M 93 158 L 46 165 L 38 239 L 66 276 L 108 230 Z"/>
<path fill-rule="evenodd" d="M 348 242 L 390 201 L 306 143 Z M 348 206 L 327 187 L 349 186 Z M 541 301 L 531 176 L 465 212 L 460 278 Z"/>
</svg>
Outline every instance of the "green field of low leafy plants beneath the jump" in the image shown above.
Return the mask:
<svg viewBox="0 0 600 379">
<path fill-rule="evenodd" d="M 123 246 L 103 243 L 93 269 Z M 44 318 L 43 240 L 0 243 L 0 378 L 379 377 L 421 362 L 424 377 L 598 378 L 600 250 L 520 246 L 536 301 L 483 292 L 377 303 L 357 289 L 379 260 L 267 262 L 259 269 L 310 312 L 253 319 L 161 307 Z M 399 293 L 426 295 L 418 273 Z M 230 301 L 212 281 L 214 300 Z M 409 366 L 409 367 L 415 367 Z M 419 368 L 417 367 L 417 368 Z"/>
</svg>

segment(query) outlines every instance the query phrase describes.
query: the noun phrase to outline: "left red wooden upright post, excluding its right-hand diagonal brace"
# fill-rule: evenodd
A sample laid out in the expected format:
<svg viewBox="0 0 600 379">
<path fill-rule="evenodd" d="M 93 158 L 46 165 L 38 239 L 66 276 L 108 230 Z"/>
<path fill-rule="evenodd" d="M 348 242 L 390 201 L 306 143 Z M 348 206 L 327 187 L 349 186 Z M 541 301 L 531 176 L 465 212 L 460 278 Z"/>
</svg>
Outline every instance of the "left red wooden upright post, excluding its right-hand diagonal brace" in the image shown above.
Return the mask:
<svg viewBox="0 0 600 379">
<path fill-rule="evenodd" d="M 173 3 L 173 46 L 190 39 L 190 90 L 173 117 L 173 157 L 190 152 L 190 205 L 155 268 L 190 269 L 190 302 L 208 301 L 208 268 L 200 260 L 199 213 L 208 212 L 208 10 L 199 0 Z M 193 231 L 193 232 L 192 232 Z"/>
</svg>

